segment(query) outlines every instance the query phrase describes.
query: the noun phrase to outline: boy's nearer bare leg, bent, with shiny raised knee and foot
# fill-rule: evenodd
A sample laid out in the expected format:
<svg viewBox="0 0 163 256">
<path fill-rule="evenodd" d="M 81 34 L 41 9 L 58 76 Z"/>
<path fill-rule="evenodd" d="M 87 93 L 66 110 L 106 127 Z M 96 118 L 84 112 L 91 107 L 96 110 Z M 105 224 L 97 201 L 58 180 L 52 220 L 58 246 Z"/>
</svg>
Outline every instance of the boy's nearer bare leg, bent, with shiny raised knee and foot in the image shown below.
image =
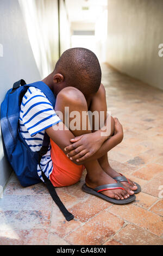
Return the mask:
<svg viewBox="0 0 163 256">
<path fill-rule="evenodd" d="M 78 125 L 80 123 L 80 127 L 78 128 L 80 129 L 72 130 L 70 127 L 70 130 L 74 136 L 79 136 L 83 135 L 84 133 L 91 132 L 88 129 L 82 130 L 82 112 L 87 111 L 87 103 L 84 95 L 78 89 L 73 87 L 67 87 L 65 89 L 62 89 L 61 92 L 57 95 L 55 111 L 57 113 L 61 112 L 63 114 L 62 121 L 66 124 L 65 107 L 69 108 L 69 113 L 71 113 L 72 111 L 77 111 L 80 116 L 80 120 L 78 120 Z M 70 124 L 73 119 L 74 117 L 70 118 Z M 104 172 L 97 160 L 86 163 L 85 168 L 87 170 L 86 184 L 91 188 L 95 188 L 104 184 L 116 183 L 114 179 L 112 179 L 108 174 L 106 174 L 106 172 Z M 115 199 L 124 199 L 129 197 L 128 192 L 122 189 L 108 190 L 103 191 L 102 193 L 108 197 Z"/>
</svg>

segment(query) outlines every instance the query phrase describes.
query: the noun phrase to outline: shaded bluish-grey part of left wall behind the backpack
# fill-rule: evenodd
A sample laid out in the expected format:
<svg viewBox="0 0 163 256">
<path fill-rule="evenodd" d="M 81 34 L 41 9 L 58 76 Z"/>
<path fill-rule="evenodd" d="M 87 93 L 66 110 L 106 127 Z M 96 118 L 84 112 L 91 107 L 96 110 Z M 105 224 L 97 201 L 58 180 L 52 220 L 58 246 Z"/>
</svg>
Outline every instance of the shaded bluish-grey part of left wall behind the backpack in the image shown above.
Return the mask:
<svg viewBox="0 0 163 256">
<path fill-rule="evenodd" d="M 0 1 L 0 44 L 3 57 L 0 57 L 0 101 L 4 99 L 12 84 L 24 78 L 27 82 L 40 80 L 27 29 L 17 0 Z M 11 169 L 3 154 L 0 141 L 0 185 L 4 186 Z"/>
</svg>

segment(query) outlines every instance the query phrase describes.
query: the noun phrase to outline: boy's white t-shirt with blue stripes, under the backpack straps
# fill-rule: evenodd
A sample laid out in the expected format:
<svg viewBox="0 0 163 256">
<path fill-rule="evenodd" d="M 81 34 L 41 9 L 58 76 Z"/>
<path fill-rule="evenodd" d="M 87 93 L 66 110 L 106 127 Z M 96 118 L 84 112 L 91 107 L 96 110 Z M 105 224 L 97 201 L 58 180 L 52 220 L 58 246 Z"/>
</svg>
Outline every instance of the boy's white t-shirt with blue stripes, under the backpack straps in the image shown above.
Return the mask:
<svg viewBox="0 0 163 256">
<path fill-rule="evenodd" d="M 45 130 L 58 124 L 61 120 L 46 95 L 40 89 L 29 87 L 22 99 L 19 121 L 21 135 L 28 147 L 32 151 L 40 151 Z M 46 155 L 42 156 L 40 165 L 45 175 L 49 178 L 53 170 L 51 145 L 49 145 Z M 39 164 L 37 165 L 37 173 L 42 179 Z"/>
</svg>

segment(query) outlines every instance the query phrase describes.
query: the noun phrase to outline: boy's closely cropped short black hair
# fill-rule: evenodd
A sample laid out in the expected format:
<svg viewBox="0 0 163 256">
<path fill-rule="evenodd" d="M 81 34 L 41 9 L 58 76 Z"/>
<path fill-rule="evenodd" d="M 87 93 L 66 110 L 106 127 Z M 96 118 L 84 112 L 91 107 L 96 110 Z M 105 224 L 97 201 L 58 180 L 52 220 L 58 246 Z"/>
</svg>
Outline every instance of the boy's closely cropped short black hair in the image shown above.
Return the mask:
<svg viewBox="0 0 163 256">
<path fill-rule="evenodd" d="M 101 84 L 101 67 L 95 53 L 86 48 L 70 48 L 62 53 L 54 71 L 65 78 L 66 86 L 79 89 L 84 95 L 96 93 Z"/>
</svg>

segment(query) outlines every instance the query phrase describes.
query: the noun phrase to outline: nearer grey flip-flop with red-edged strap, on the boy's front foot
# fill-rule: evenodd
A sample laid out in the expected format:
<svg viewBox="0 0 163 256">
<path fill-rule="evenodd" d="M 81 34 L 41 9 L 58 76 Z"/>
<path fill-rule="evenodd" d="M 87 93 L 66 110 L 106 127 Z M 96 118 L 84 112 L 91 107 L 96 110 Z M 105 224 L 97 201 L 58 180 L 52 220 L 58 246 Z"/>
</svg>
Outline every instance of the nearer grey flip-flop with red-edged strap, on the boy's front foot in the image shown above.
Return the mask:
<svg viewBox="0 0 163 256">
<path fill-rule="evenodd" d="M 104 200 L 106 200 L 106 201 L 108 201 L 109 203 L 112 203 L 112 204 L 128 204 L 128 203 L 133 202 L 136 199 L 134 194 L 133 194 L 133 196 L 129 196 L 126 199 L 118 200 L 118 199 L 114 199 L 114 198 L 111 198 L 111 197 L 107 197 L 104 194 L 100 193 L 100 192 L 105 191 L 105 190 L 116 190 L 117 188 L 121 188 L 122 190 L 124 190 L 123 185 L 120 182 L 112 183 L 112 184 L 106 184 L 106 185 L 98 186 L 98 187 L 95 187 L 95 188 L 90 188 L 86 184 L 84 184 L 82 186 L 82 190 L 84 192 L 89 193 L 89 194 L 93 194 L 93 196 L 102 198 L 102 199 L 104 199 Z"/>
</svg>

